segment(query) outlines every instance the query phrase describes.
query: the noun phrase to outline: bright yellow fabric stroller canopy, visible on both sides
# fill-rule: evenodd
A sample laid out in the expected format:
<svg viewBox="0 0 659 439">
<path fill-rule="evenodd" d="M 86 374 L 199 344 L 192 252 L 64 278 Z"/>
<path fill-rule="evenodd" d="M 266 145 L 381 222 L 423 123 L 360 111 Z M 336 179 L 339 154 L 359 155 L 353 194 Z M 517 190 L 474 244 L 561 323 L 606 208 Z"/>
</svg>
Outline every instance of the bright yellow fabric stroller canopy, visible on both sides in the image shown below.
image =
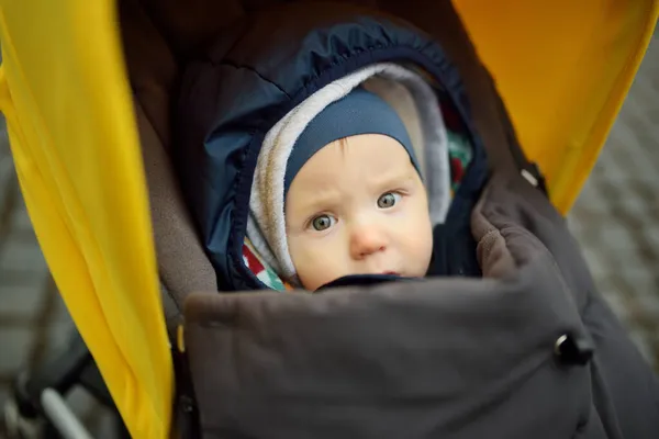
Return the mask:
<svg viewBox="0 0 659 439">
<path fill-rule="evenodd" d="M 659 1 L 454 2 L 567 213 Z M 53 277 L 132 436 L 167 437 L 174 372 L 116 4 L 0 0 L 0 109 Z"/>
</svg>

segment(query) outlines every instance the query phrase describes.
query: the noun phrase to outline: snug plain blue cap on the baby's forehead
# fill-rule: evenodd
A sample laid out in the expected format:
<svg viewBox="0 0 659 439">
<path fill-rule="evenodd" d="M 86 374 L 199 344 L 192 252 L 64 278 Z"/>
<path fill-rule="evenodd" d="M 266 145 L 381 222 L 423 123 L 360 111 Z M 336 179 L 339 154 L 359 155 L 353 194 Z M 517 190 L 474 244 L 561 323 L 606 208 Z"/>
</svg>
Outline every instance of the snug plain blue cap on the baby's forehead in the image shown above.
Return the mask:
<svg viewBox="0 0 659 439">
<path fill-rule="evenodd" d="M 300 169 L 314 154 L 332 142 L 360 134 L 382 134 L 398 140 L 421 175 L 412 140 L 398 113 L 377 94 L 358 88 L 327 105 L 298 137 L 287 162 L 284 196 Z"/>
</svg>

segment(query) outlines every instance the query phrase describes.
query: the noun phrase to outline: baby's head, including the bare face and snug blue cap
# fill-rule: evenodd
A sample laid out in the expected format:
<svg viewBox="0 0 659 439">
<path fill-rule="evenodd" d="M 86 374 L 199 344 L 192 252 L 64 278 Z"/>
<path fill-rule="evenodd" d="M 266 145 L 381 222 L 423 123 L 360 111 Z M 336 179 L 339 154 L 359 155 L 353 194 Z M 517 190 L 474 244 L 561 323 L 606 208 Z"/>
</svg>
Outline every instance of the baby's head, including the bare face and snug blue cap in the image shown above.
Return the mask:
<svg viewBox="0 0 659 439">
<path fill-rule="evenodd" d="M 403 122 L 375 93 L 355 89 L 306 125 L 286 162 L 283 195 L 280 247 L 294 268 L 288 278 L 304 289 L 350 274 L 425 275 L 426 189 Z"/>
</svg>

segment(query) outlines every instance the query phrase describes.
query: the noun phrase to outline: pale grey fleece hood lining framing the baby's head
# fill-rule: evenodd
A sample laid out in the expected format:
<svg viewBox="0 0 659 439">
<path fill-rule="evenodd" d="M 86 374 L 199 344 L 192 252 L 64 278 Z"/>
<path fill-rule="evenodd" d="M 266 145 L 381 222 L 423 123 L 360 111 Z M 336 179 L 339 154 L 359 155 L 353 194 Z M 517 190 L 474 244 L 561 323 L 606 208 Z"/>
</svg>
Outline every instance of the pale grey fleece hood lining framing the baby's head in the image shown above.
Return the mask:
<svg viewBox="0 0 659 439">
<path fill-rule="evenodd" d="M 252 185 L 247 236 L 256 251 L 284 279 L 295 275 L 283 216 L 283 176 L 291 150 L 306 125 L 323 109 L 356 87 L 370 89 L 372 79 L 379 80 L 373 91 L 399 113 L 407 132 L 416 134 L 412 147 L 423 164 L 421 173 L 428 191 L 432 224 L 440 224 L 446 218 L 450 203 L 448 139 L 436 93 L 421 76 L 395 64 L 361 68 L 323 87 L 291 110 L 268 132 L 261 146 Z M 395 86 L 400 89 L 396 90 Z M 405 100 L 394 98 L 396 92 L 409 97 L 411 108 L 405 108 Z"/>
</svg>

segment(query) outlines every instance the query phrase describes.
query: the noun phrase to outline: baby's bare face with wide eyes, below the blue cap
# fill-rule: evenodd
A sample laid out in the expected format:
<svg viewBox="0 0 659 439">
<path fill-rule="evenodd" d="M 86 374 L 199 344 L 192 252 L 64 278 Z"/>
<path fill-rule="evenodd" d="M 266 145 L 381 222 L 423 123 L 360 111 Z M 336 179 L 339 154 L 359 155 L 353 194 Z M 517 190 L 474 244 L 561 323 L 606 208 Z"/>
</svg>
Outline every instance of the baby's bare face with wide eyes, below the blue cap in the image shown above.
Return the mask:
<svg viewBox="0 0 659 439">
<path fill-rule="evenodd" d="M 404 147 L 364 134 L 304 164 L 286 199 L 289 251 L 302 285 L 348 274 L 425 275 L 433 249 L 426 190 Z"/>
</svg>

